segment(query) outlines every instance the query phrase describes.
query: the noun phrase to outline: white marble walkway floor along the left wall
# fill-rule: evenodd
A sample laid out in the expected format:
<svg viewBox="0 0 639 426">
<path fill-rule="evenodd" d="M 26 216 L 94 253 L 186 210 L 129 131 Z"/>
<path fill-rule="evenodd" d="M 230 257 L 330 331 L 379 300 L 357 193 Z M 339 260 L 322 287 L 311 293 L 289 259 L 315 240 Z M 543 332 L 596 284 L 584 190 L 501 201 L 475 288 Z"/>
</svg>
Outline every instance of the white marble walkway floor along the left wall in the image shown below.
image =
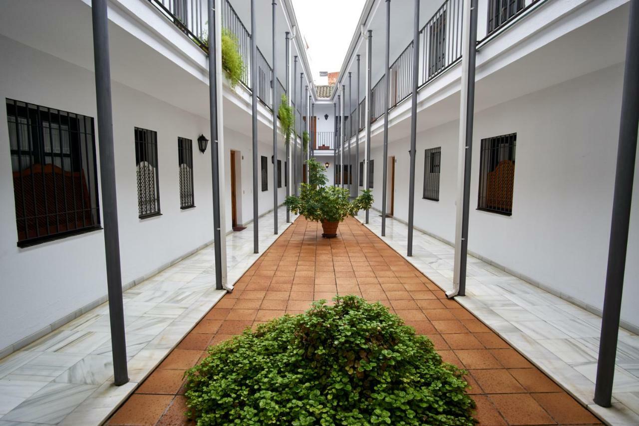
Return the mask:
<svg viewBox="0 0 639 426">
<path fill-rule="evenodd" d="M 289 226 L 284 208 L 278 225 L 279 232 Z M 271 212 L 259 220 L 260 251 L 275 239 Z M 100 424 L 226 294 L 215 290 L 214 256 L 208 246 L 124 293 L 130 377 L 124 386 L 113 384 L 106 303 L 1 359 L 0 426 Z M 228 235 L 229 283 L 259 256 L 252 225 Z"/>
</svg>

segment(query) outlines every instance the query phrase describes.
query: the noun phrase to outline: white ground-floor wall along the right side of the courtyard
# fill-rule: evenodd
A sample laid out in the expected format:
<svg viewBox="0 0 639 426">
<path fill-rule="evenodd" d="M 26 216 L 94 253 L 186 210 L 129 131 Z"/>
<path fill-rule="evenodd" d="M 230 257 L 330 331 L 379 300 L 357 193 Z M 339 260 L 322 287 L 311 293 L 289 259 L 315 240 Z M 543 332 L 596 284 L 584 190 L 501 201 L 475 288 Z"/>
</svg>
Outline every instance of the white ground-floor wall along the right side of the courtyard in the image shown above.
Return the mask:
<svg viewBox="0 0 639 426">
<path fill-rule="evenodd" d="M 619 132 L 622 65 L 605 68 L 475 114 L 469 250 L 601 309 Z M 454 240 L 458 122 L 417 135 L 415 226 Z M 517 133 L 512 216 L 475 210 L 481 139 Z M 424 150 L 442 146 L 440 201 L 422 199 Z M 408 139 L 395 155 L 395 216 L 408 217 Z M 381 146 L 374 207 L 381 207 Z M 639 200 L 635 177 L 634 200 Z M 639 326 L 639 209 L 633 209 L 622 319 Z"/>
</svg>

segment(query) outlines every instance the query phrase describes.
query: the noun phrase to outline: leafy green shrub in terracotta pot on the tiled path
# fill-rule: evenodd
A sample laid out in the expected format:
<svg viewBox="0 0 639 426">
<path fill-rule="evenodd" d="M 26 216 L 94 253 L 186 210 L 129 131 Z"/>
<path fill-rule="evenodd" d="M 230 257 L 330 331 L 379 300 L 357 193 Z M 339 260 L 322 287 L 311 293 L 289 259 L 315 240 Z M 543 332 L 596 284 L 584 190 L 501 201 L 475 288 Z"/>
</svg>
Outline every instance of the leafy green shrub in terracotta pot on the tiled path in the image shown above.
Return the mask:
<svg viewBox="0 0 639 426">
<path fill-rule="evenodd" d="M 337 237 L 337 227 L 347 216 L 355 216 L 359 210 L 368 210 L 373 205 L 373 195 L 366 189 L 355 200 L 349 200 L 348 189 L 327 186 L 324 165 L 309 159 L 309 183 L 302 184 L 300 196 L 288 196 L 284 205 L 291 212 L 301 214 L 309 221 L 321 222 L 322 237 Z"/>
</svg>

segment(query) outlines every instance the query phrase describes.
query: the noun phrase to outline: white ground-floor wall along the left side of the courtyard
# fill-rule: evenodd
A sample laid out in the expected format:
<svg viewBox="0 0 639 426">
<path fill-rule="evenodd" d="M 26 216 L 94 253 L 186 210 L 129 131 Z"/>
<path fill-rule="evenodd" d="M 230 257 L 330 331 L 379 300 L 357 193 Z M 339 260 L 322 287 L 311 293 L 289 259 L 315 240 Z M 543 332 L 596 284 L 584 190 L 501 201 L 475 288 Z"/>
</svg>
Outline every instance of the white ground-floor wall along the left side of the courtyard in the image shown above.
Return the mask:
<svg viewBox="0 0 639 426">
<path fill-rule="evenodd" d="M 17 247 L 13 177 L 4 98 L 32 102 L 96 118 L 93 72 L 0 36 L 0 350 L 94 303 L 107 293 L 102 231 Z M 179 81 L 173 84 L 178 86 Z M 202 93 L 208 97 L 208 93 Z M 157 100 L 122 84 L 112 83 L 116 185 L 122 282 L 130 283 L 167 262 L 212 241 L 213 207 L 209 144 L 204 154 L 197 136 L 210 138 L 208 111 L 201 116 Z M 95 125 L 99 123 L 95 122 Z M 139 219 L 135 176 L 134 127 L 155 130 L 162 216 Z M 196 208 L 181 210 L 178 184 L 178 136 L 193 140 Z M 230 229 L 230 150 L 240 150 L 242 162 L 242 222 L 252 219 L 250 138 L 225 129 L 227 152 L 226 207 Z M 268 157 L 269 191 L 259 193 L 259 212 L 273 208 L 272 133 L 263 135 L 259 155 Z M 96 152 L 98 152 L 96 136 Z M 99 164 L 99 155 L 98 164 Z M 284 144 L 281 143 L 281 159 Z M 283 162 L 282 162 L 283 163 Z M 99 168 L 98 168 L 99 169 Z M 259 176 L 259 175 L 258 175 Z M 282 175 L 279 200 L 286 188 Z M 99 186 L 99 175 L 98 175 Z M 98 191 L 102 194 L 102 191 Z M 102 201 L 100 200 L 100 206 Z M 102 214 L 100 215 L 102 217 Z"/>
</svg>

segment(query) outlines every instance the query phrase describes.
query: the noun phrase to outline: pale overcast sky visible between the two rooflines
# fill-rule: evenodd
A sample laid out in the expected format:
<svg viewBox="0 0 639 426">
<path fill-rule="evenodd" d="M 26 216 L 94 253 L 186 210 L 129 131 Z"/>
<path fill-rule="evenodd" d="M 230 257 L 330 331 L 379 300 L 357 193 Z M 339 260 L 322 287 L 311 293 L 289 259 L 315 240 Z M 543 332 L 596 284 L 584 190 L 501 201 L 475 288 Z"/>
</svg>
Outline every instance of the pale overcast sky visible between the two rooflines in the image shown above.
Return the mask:
<svg viewBox="0 0 639 426">
<path fill-rule="evenodd" d="M 365 0 L 292 0 L 314 78 L 339 71 Z M 335 13 L 339 11 L 339 13 Z"/>
</svg>

